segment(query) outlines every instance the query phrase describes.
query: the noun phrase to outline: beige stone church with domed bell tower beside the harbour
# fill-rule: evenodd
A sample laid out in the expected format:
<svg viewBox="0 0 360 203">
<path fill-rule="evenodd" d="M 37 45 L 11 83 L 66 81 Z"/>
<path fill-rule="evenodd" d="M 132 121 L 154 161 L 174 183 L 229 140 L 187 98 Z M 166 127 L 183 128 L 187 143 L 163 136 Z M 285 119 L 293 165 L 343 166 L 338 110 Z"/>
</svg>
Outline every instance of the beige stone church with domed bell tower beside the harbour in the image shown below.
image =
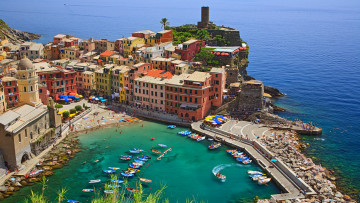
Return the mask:
<svg viewBox="0 0 360 203">
<path fill-rule="evenodd" d="M 59 125 L 53 102 L 45 106 L 39 98 L 39 78 L 28 58 L 20 60 L 16 78 L 20 107 L 0 115 L 0 165 L 8 169 L 21 169 L 46 149 Z"/>
</svg>

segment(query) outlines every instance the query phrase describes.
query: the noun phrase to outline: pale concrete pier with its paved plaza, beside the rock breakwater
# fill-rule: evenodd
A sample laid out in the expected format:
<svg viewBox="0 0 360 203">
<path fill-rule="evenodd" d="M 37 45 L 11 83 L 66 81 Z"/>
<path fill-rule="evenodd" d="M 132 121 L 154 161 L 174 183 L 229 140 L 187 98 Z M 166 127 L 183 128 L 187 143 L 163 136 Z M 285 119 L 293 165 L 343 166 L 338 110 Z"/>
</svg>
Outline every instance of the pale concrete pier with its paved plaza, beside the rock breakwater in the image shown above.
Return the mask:
<svg viewBox="0 0 360 203">
<path fill-rule="evenodd" d="M 221 140 L 228 146 L 244 150 L 254 162 L 273 178 L 284 192 L 272 195 L 271 199 L 275 201 L 303 199 L 305 196 L 316 194 L 310 186 L 298 178 L 291 169 L 284 166 L 280 160 L 272 162 L 269 159 L 271 153 L 256 141 L 259 136 L 272 136 L 269 128 L 246 121 L 234 120 L 225 123 L 219 129 L 202 126 L 202 121 L 192 123 L 191 128 L 199 134 Z"/>
</svg>

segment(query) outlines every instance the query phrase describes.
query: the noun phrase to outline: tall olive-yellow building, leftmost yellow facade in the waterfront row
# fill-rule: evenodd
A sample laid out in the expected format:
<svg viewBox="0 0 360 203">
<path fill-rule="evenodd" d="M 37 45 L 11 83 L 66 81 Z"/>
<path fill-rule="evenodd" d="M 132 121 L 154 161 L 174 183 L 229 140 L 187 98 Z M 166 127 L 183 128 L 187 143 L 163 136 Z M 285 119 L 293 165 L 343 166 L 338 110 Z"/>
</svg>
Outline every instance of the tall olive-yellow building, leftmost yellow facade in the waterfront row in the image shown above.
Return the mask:
<svg viewBox="0 0 360 203">
<path fill-rule="evenodd" d="M 103 96 L 111 96 L 111 70 L 114 68 L 112 64 L 106 64 L 104 68 L 95 72 L 96 91 Z"/>
</svg>

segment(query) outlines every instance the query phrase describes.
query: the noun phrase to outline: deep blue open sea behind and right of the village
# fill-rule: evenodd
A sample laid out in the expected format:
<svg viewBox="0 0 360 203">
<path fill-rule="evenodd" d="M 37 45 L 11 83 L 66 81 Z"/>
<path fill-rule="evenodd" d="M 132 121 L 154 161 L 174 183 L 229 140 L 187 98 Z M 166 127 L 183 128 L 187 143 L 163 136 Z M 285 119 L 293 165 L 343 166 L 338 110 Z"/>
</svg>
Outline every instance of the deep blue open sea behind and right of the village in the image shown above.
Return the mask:
<svg viewBox="0 0 360 203">
<path fill-rule="evenodd" d="M 340 186 L 360 190 L 360 1 L 358 0 L 12 0 L 0 4 L 11 27 L 115 40 L 132 32 L 211 21 L 240 30 L 250 45 L 248 73 L 287 96 L 281 115 L 314 121 L 321 137 L 304 137 L 309 156 L 336 171 Z M 352 194 L 353 197 L 354 194 Z M 357 196 L 359 199 L 359 195 Z"/>
</svg>

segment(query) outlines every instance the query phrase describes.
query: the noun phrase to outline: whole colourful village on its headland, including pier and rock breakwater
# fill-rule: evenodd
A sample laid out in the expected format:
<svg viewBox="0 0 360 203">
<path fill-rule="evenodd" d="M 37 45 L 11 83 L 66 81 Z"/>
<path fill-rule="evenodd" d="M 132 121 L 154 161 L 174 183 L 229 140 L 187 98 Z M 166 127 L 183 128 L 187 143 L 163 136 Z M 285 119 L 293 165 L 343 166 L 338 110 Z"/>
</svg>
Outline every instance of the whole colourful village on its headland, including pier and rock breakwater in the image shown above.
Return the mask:
<svg viewBox="0 0 360 203">
<path fill-rule="evenodd" d="M 272 114 L 270 98 L 281 93 L 266 92 L 262 81 L 247 75 L 249 46 L 238 30 L 213 24 L 209 7 L 201 8 L 197 25 L 161 23 L 159 32 L 136 31 L 115 41 L 57 34 L 44 45 L 2 36 L 0 199 L 39 181 L 25 176 L 44 157 L 54 160 L 50 150 L 72 158 L 80 150 L 73 135 L 90 130 L 83 119 L 91 115 L 91 127 L 100 128 L 110 115 L 191 127 L 247 151 L 284 190 L 259 201 L 352 201 L 329 171 L 301 153 L 306 146 L 297 134 L 319 135 L 321 129 Z M 229 121 L 205 122 L 217 114 Z M 103 125 L 119 125 L 110 120 Z"/>
</svg>

